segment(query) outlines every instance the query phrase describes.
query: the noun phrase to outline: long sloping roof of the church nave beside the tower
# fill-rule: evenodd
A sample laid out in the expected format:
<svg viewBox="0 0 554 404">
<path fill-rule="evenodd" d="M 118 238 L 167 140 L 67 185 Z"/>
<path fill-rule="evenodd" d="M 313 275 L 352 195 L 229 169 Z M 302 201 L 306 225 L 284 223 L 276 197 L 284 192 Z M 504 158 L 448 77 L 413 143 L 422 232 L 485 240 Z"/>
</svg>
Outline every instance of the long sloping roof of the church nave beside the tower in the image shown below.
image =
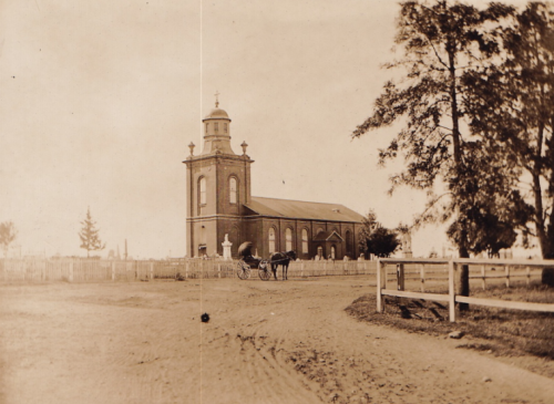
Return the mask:
<svg viewBox="0 0 554 404">
<path fill-rule="evenodd" d="M 260 216 L 294 219 L 361 221 L 363 216 L 340 204 L 310 203 L 253 196 L 247 208 Z"/>
</svg>

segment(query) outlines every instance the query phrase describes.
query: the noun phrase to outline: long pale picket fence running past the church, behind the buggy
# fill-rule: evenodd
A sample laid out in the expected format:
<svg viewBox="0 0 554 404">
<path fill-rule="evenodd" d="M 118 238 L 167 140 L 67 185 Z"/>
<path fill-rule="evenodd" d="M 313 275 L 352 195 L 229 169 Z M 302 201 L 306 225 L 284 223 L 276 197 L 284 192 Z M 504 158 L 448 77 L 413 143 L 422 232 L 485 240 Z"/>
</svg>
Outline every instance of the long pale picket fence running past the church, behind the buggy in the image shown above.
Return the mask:
<svg viewBox="0 0 554 404">
<path fill-rule="evenodd" d="M 235 278 L 237 261 L 158 260 L 111 261 L 99 259 L 3 259 L 0 282 L 91 282 L 172 279 Z M 376 261 L 294 261 L 289 278 L 376 273 Z M 280 267 L 278 277 L 280 279 Z"/>
</svg>

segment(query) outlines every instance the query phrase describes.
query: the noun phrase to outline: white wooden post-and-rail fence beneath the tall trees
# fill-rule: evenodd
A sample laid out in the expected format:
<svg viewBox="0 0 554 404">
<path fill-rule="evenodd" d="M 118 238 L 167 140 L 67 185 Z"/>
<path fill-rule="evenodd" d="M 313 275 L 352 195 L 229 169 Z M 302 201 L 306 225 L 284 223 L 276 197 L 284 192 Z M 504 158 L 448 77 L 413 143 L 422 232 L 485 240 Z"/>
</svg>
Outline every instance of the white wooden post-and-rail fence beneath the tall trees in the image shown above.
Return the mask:
<svg viewBox="0 0 554 404">
<path fill-rule="evenodd" d="M 387 266 L 396 266 L 396 289 L 389 289 L 390 272 L 387 272 Z M 482 289 L 486 288 L 486 279 L 504 279 L 506 288 L 510 288 L 511 278 L 525 278 L 526 284 L 530 284 L 532 276 L 540 273 L 542 268 L 554 268 L 554 260 L 497 260 L 497 259 L 474 259 L 474 258 L 454 258 L 454 259 L 410 259 L 410 258 L 381 258 L 377 260 L 377 311 L 384 311 L 384 297 L 398 297 L 408 299 L 421 299 L 447 302 L 449 304 L 449 319 L 455 321 L 455 303 L 469 303 L 478 305 L 486 305 L 502 309 L 517 309 L 538 312 L 554 312 L 552 303 L 530 303 L 520 301 L 509 301 L 499 299 L 472 298 L 456 294 L 456 279 L 459 276 L 460 266 L 470 266 L 470 269 L 480 269 L 479 274 L 471 274 L 470 280 L 480 279 Z M 406 268 L 411 266 L 418 270 L 410 274 L 418 274 L 420 278 L 420 291 L 406 291 Z M 439 267 L 439 270 L 430 271 L 429 268 Z M 441 269 L 442 268 L 442 269 Z M 496 270 L 499 268 L 500 270 Z M 538 271 L 538 272 L 537 272 Z M 425 292 L 425 277 L 431 274 L 443 274 L 431 279 L 445 279 L 448 273 L 449 293 L 429 293 Z M 411 278 L 414 279 L 414 278 Z M 427 277 L 429 280 L 430 277 Z"/>
</svg>

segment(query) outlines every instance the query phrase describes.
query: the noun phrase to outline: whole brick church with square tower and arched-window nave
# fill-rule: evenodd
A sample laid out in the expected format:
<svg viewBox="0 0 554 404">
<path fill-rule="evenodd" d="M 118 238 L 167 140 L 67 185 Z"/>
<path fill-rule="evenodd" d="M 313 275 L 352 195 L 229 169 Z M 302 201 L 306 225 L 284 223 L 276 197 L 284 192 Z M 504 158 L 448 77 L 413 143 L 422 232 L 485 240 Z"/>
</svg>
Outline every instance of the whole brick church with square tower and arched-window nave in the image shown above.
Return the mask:
<svg viewBox="0 0 554 404">
<path fill-rule="evenodd" d="M 232 255 L 244 241 L 253 253 L 295 250 L 300 259 L 332 257 L 355 259 L 362 216 L 338 204 L 309 203 L 252 196 L 250 166 L 246 154 L 230 147 L 230 118 L 216 101 L 204 120 L 204 147 L 186 158 L 186 253 L 188 257 L 223 255 L 228 235 Z"/>
</svg>

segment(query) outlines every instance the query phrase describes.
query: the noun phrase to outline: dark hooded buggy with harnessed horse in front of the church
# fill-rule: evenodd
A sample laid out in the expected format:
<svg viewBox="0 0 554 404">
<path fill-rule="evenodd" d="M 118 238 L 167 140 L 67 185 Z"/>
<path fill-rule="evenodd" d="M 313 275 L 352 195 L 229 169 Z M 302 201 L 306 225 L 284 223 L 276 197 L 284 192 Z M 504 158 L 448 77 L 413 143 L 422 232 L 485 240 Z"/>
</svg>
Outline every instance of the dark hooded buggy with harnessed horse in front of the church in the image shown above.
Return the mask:
<svg viewBox="0 0 554 404">
<path fill-rule="evenodd" d="M 252 241 L 245 241 L 238 247 L 238 256 L 240 257 L 237 265 L 237 274 L 239 279 L 248 279 L 252 269 L 258 270 L 258 277 L 261 280 L 269 280 L 271 272 L 277 280 L 277 267 L 283 266 L 283 280 L 287 279 L 288 265 L 296 259 L 295 251 L 275 252 L 269 259 L 256 258 L 252 255 Z"/>
</svg>

